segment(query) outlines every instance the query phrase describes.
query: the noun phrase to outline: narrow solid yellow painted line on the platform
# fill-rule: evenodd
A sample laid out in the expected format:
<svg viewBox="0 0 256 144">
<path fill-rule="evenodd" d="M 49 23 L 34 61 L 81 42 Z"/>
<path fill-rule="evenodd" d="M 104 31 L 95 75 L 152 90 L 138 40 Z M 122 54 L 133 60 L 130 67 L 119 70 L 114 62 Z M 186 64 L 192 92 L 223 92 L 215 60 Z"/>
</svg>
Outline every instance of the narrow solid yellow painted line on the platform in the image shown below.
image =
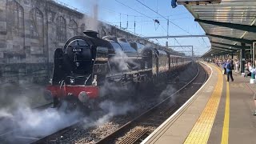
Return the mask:
<svg viewBox="0 0 256 144">
<path fill-rule="evenodd" d="M 230 84 L 226 82 L 226 106 L 225 117 L 222 130 L 222 144 L 229 143 L 229 128 L 230 128 Z"/>
</svg>

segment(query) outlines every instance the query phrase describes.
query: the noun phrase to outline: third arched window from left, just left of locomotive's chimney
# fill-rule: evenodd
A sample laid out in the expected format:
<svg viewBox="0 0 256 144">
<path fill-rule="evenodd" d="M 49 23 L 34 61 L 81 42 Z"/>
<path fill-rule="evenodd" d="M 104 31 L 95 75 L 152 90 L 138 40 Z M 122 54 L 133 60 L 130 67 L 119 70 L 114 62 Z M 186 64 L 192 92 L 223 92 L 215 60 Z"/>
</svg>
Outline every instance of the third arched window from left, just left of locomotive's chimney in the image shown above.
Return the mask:
<svg viewBox="0 0 256 144">
<path fill-rule="evenodd" d="M 58 42 L 66 41 L 66 20 L 62 16 L 57 18 L 57 40 Z"/>
</svg>

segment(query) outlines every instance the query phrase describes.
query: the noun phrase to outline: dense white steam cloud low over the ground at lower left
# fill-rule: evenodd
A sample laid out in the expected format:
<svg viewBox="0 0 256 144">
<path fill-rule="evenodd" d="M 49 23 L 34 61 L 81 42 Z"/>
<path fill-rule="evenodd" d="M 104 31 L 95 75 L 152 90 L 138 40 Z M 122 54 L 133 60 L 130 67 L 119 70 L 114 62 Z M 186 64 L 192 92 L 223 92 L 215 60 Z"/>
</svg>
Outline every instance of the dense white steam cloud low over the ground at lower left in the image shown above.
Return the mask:
<svg viewBox="0 0 256 144">
<path fill-rule="evenodd" d="M 17 110 L 0 110 L 0 118 L 8 119 L 19 134 L 38 138 L 52 134 L 74 122 L 78 122 L 80 114 L 76 111 L 65 113 L 57 109 L 33 110 L 28 106 L 20 106 Z M 2 123 L 3 122 L 3 123 Z M 1 121 L 1 126 L 8 125 Z"/>
</svg>

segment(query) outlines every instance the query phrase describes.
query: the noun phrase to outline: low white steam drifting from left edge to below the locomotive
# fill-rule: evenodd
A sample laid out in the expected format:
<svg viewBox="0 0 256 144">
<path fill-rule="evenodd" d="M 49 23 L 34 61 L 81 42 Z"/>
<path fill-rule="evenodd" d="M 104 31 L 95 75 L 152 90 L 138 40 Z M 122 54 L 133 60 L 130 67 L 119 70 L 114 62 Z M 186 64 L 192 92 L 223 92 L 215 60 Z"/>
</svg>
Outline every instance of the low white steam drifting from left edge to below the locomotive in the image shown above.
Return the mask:
<svg viewBox="0 0 256 144">
<path fill-rule="evenodd" d="M 8 84 L 5 88 L 8 86 L 13 85 Z M 115 115 L 126 114 L 128 111 L 134 110 L 129 102 L 118 103 L 108 100 L 99 104 L 99 107 L 104 110 L 103 112 L 99 111 L 92 115 L 87 115 L 86 118 L 84 114 L 78 111 L 66 113 L 62 108 L 58 110 L 53 108 L 35 110 L 29 105 L 30 102 L 28 100 L 31 96 L 28 94 L 36 94 L 36 91 L 28 90 L 29 88 L 25 85 L 22 85 L 22 88 L 26 89 L 26 93 L 22 92 L 20 95 L 12 95 L 11 98 L 15 100 L 10 103 L 13 106 L 3 106 L 0 108 L 0 137 L 13 131 L 14 135 L 10 136 L 7 134 L 8 137 L 6 137 L 10 143 L 12 143 L 13 137 L 17 136 L 17 134 L 29 138 L 41 138 L 81 120 L 85 122 L 85 128 L 88 126 L 98 126 L 110 121 L 110 118 L 113 118 Z M 0 97 L 4 99 L 6 91 L 0 91 Z M 23 96 L 18 98 L 21 95 Z"/>
</svg>

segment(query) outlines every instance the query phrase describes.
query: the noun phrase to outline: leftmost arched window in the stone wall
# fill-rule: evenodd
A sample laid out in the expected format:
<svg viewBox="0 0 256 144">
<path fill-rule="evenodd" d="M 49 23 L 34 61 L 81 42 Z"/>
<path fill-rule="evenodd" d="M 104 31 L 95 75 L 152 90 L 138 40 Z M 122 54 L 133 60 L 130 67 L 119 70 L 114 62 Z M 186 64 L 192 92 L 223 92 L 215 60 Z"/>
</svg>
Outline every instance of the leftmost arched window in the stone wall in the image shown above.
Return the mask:
<svg viewBox="0 0 256 144">
<path fill-rule="evenodd" d="M 24 36 L 24 10 L 16 1 L 6 2 L 7 30 L 20 37 Z"/>
</svg>

